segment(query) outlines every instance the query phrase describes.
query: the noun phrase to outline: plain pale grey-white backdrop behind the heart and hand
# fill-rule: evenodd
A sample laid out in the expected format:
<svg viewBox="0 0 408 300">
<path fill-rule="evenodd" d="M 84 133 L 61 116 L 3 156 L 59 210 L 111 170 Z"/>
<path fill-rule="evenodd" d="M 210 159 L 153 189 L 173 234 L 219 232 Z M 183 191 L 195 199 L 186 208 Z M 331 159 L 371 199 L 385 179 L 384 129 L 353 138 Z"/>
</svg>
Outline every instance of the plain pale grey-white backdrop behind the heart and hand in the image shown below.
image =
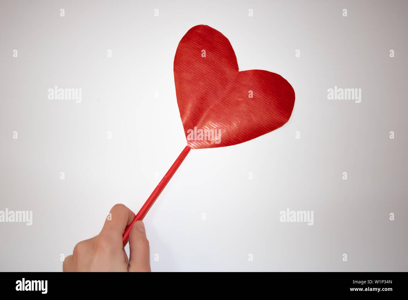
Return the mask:
<svg viewBox="0 0 408 300">
<path fill-rule="evenodd" d="M 113 204 L 140 209 L 186 145 L 173 59 L 197 24 L 230 40 L 240 71 L 288 80 L 295 107 L 272 133 L 188 154 L 144 219 L 152 271 L 408 271 L 407 8 L 2 0 L 0 210 L 32 210 L 33 224 L 0 223 L 0 271 L 61 271 Z M 82 103 L 48 100 L 55 85 L 82 88 Z M 335 85 L 361 103 L 328 100 Z M 279 222 L 287 208 L 314 225 Z"/>
</svg>

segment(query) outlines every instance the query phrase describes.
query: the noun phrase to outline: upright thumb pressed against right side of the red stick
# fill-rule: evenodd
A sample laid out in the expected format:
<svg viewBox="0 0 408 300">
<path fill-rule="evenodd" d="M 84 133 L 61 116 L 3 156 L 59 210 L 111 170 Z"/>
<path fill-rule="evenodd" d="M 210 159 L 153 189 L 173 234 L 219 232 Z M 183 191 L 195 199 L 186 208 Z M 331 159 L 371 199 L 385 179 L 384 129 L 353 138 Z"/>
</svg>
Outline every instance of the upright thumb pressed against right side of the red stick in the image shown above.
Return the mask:
<svg viewBox="0 0 408 300">
<path fill-rule="evenodd" d="M 150 272 L 149 241 L 142 221 L 133 224 L 129 233 L 129 272 Z"/>
</svg>

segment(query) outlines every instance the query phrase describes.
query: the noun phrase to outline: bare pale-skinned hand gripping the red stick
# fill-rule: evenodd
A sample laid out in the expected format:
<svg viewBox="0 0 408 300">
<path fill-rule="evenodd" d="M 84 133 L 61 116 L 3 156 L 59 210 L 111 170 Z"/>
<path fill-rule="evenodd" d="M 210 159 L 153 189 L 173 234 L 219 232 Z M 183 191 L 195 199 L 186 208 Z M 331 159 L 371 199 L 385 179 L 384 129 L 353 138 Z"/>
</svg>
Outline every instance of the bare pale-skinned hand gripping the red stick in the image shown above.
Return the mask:
<svg viewBox="0 0 408 300">
<path fill-rule="evenodd" d="M 130 257 L 124 248 L 122 234 L 135 214 L 123 204 L 111 209 L 98 236 L 76 244 L 73 254 L 62 264 L 64 272 L 150 272 L 149 241 L 142 221 L 129 234 Z"/>
</svg>

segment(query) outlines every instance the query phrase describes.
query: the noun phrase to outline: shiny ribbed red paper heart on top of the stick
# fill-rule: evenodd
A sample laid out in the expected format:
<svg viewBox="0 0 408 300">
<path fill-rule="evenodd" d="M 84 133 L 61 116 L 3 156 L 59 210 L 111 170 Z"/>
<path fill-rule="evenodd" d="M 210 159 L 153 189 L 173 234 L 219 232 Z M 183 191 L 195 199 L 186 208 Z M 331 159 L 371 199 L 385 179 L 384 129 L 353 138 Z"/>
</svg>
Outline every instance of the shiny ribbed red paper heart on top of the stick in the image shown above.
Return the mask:
<svg viewBox="0 0 408 300">
<path fill-rule="evenodd" d="M 295 91 L 282 76 L 264 70 L 239 72 L 231 43 L 206 25 L 191 28 L 180 41 L 174 82 L 191 149 L 262 136 L 284 125 L 295 104 Z"/>
</svg>

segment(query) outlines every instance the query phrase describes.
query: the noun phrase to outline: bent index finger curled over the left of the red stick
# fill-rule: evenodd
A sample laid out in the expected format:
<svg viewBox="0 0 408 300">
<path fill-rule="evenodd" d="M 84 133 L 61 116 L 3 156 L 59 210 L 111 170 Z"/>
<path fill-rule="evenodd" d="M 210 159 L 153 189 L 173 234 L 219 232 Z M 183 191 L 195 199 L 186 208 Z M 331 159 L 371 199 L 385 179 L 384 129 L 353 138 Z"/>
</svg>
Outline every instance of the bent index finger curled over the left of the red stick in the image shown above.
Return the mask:
<svg viewBox="0 0 408 300">
<path fill-rule="evenodd" d="M 122 236 L 126 226 L 135 218 L 135 214 L 123 204 L 115 204 L 110 213 L 111 216 L 106 218 L 100 234 L 114 232 Z"/>
</svg>

